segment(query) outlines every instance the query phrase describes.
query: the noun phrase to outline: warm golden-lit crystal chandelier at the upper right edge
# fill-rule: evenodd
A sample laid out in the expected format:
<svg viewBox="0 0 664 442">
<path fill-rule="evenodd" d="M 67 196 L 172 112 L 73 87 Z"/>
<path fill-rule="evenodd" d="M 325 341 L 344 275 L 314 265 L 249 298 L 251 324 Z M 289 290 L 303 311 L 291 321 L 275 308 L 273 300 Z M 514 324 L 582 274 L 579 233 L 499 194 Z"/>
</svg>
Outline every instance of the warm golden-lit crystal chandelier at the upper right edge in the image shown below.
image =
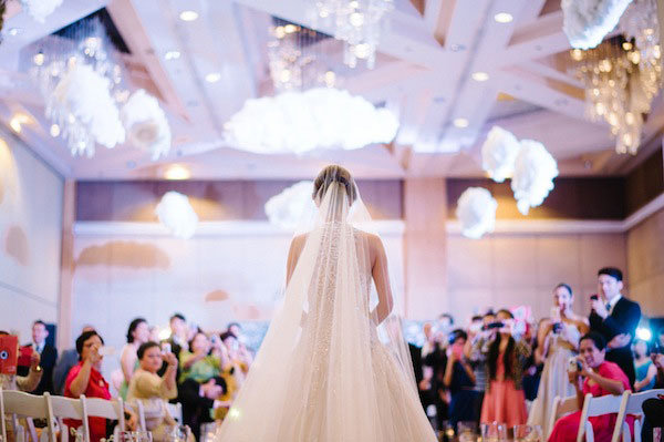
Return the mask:
<svg viewBox="0 0 664 442">
<path fill-rule="evenodd" d="M 624 38 L 598 48 L 571 50 L 577 76 L 585 88 L 587 113 L 604 120 L 618 153 L 636 154 L 644 115 L 662 83 L 660 32 L 654 0 L 637 0 L 620 23 Z"/>
</svg>

